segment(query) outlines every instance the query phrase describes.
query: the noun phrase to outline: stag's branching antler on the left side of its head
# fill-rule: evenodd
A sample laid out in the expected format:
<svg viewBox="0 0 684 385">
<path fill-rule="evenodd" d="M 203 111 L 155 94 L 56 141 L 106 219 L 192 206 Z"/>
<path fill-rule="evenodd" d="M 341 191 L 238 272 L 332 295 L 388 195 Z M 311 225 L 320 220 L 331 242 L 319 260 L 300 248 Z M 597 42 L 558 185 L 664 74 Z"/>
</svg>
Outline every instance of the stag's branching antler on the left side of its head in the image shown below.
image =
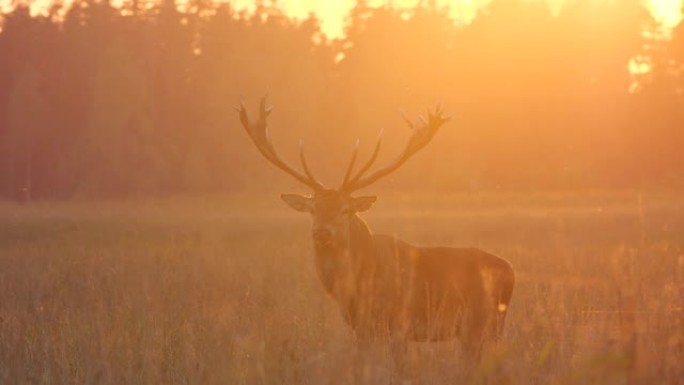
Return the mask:
<svg viewBox="0 0 684 385">
<path fill-rule="evenodd" d="M 273 107 L 266 106 L 266 96 L 261 98 L 261 103 L 259 105 L 259 118 L 255 122 L 249 121 L 247 109 L 245 108 L 245 104 L 242 100 L 240 100 L 240 106 L 235 107 L 235 109 L 240 115 L 240 123 L 242 123 L 242 126 L 247 131 L 247 134 L 252 139 L 252 142 L 254 142 L 254 145 L 256 145 L 261 155 L 263 155 L 276 167 L 292 175 L 295 179 L 311 187 L 312 189 L 325 189 L 325 186 L 318 182 L 311 174 L 311 171 L 306 164 L 306 159 L 304 158 L 304 146 L 302 145 L 301 141 L 299 142 L 299 156 L 302 162 L 302 167 L 304 168 L 304 174 L 288 165 L 276 152 L 275 148 L 273 147 L 273 143 L 271 142 L 271 135 L 266 127 L 266 118 L 273 110 Z"/>
</svg>

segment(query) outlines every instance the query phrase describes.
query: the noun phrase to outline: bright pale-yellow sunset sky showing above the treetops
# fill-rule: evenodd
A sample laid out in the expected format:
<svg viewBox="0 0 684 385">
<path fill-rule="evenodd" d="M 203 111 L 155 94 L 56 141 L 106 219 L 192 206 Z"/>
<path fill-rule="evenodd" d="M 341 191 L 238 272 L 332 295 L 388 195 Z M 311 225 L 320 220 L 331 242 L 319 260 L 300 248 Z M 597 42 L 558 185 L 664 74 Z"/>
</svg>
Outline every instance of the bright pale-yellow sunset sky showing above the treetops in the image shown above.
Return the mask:
<svg viewBox="0 0 684 385">
<path fill-rule="evenodd" d="M 68 3 L 70 0 L 65 0 Z M 450 13 L 455 20 L 468 22 L 472 20 L 477 11 L 486 6 L 490 0 L 435 0 L 440 7 L 449 7 Z M 525 0 L 521 0 L 525 1 Z M 534 1 L 534 0 L 526 0 Z M 554 11 L 562 9 L 563 4 L 568 0 L 536 0 L 545 1 Z M 603 0 L 610 1 L 610 0 Z M 32 9 L 34 13 L 39 13 L 41 9 L 49 4 L 50 0 L 33 1 Z M 113 0 L 122 3 L 122 0 Z M 322 23 L 323 32 L 331 38 L 340 37 L 343 34 L 345 18 L 352 9 L 355 0 L 275 0 L 283 11 L 295 18 L 305 18 L 310 13 L 318 16 Z M 411 8 L 420 0 L 369 0 L 371 6 L 392 3 L 395 7 Z M 0 0 L 0 9 L 5 11 L 11 8 L 13 0 Z M 250 10 L 254 7 L 253 0 L 233 0 L 230 1 L 236 9 Z M 676 26 L 682 19 L 682 5 L 684 0 L 644 0 L 645 6 L 653 17 L 665 28 Z"/>
</svg>

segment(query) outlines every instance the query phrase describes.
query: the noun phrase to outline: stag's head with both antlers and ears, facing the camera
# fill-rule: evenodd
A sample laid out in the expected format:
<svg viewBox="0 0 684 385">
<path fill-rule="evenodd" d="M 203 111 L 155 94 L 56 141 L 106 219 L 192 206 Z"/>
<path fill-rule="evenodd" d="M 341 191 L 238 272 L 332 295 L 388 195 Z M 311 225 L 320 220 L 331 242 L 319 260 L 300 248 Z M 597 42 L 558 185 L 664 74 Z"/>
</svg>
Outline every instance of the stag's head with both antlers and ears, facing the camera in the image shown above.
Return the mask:
<svg viewBox="0 0 684 385">
<path fill-rule="evenodd" d="M 255 121 L 249 119 L 244 103 L 240 103 L 236 110 L 239 113 L 242 126 L 259 152 L 276 167 L 313 190 L 313 195 L 282 194 L 281 198 L 293 209 L 308 212 L 312 215 L 314 222 L 312 236 L 317 251 L 336 249 L 340 246 L 348 245 L 351 219 L 357 213 L 368 210 L 377 199 L 375 196 L 354 197 L 352 193 L 370 186 L 377 180 L 394 172 L 416 152 L 425 147 L 434 137 L 437 130 L 448 121 L 448 118 L 442 116 L 441 107 L 437 107 L 434 111 L 428 111 L 428 118 L 425 119 L 420 116 L 417 122 L 412 122 L 404 117 L 404 120 L 413 131 L 405 149 L 393 162 L 370 174 L 368 171 L 373 166 L 380 152 L 382 133 L 378 137 L 378 142 L 370 159 L 354 173 L 354 165 L 359 148 L 359 142 L 357 141 L 342 184 L 337 189 L 331 189 L 325 187 L 311 174 L 304 157 L 304 148 L 301 142 L 299 154 L 303 173 L 288 165 L 277 154 L 266 124 L 266 119 L 270 115 L 272 108 L 267 106 L 265 97 L 261 99 L 259 116 Z"/>
</svg>

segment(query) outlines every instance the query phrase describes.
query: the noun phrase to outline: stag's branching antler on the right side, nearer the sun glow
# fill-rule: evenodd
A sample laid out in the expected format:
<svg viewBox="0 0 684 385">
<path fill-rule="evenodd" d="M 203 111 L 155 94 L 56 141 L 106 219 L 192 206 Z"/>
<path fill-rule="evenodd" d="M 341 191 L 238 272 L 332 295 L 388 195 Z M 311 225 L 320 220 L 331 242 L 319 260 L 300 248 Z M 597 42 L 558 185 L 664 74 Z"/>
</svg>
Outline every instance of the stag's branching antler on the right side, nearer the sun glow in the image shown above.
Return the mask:
<svg viewBox="0 0 684 385">
<path fill-rule="evenodd" d="M 353 178 L 349 179 L 349 175 L 351 175 L 351 169 L 354 165 L 354 160 L 356 159 L 356 151 L 354 151 L 352 161 L 349 164 L 347 175 L 344 181 L 342 182 L 342 185 L 340 186 L 340 191 L 345 191 L 349 193 L 375 183 L 378 179 L 391 174 L 396 169 L 401 167 L 401 165 L 404 164 L 409 158 L 411 158 L 416 152 L 418 152 L 428 143 L 430 143 L 430 140 L 432 140 L 432 138 L 435 136 L 437 130 L 444 123 L 449 121 L 449 118 L 442 116 L 441 106 L 437 106 L 434 112 L 430 110 L 428 110 L 427 112 L 427 120 L 425 120 L 424 117 L 419 116 L 418 121 L 415 123 L 406 118 L 406 116 L 404 116 L 404 120 L 406 121 L 408 126 L 413 130 L 413 133 L 411 134 L 411 137 L 409 138 L 408 143 L 406 144 L 406 148 L 404 148 L 404 151 L 397 157 L 397 159 L 394 160 L 394 162 L 390 163 L 389 165 L 375 171 L 374 173 L 368 176 L 364 176 L 364 174 L 370 169 L 370 167 L 375 162 L 375 159 L 377 159 L 378 157 L 378 153 L 380 152 L 380 144 L 382 143 L 382 132 L 380 133 L 380 137 L 378 138 L 378 144 L 375 145 L 375 150 L 373 151 L 373 155 L 371 155 L 369 161 L 366 162 L 366 164 L 359 169 L 359 171 L 356 173 L 356 175 L 354 175 Z"/>
</svg>

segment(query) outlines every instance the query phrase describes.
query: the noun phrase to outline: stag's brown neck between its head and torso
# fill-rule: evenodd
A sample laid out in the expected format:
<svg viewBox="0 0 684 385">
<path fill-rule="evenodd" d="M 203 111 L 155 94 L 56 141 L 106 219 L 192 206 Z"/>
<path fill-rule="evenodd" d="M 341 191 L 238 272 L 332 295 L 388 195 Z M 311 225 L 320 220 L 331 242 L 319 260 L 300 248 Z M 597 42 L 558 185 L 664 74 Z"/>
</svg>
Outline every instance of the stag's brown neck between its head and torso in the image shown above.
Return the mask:
<svg viewBox="0 0 684 385">
<path fill-rule="evenodd" d="M 349 221 L 349 241 L 326 250 L 316 250 L 316 270 L 326 291 L 347 302 L 357 294 L 358 282 L 370 271 L 375 244 L 368 224 L 358 215 Z"/>
</svg>

